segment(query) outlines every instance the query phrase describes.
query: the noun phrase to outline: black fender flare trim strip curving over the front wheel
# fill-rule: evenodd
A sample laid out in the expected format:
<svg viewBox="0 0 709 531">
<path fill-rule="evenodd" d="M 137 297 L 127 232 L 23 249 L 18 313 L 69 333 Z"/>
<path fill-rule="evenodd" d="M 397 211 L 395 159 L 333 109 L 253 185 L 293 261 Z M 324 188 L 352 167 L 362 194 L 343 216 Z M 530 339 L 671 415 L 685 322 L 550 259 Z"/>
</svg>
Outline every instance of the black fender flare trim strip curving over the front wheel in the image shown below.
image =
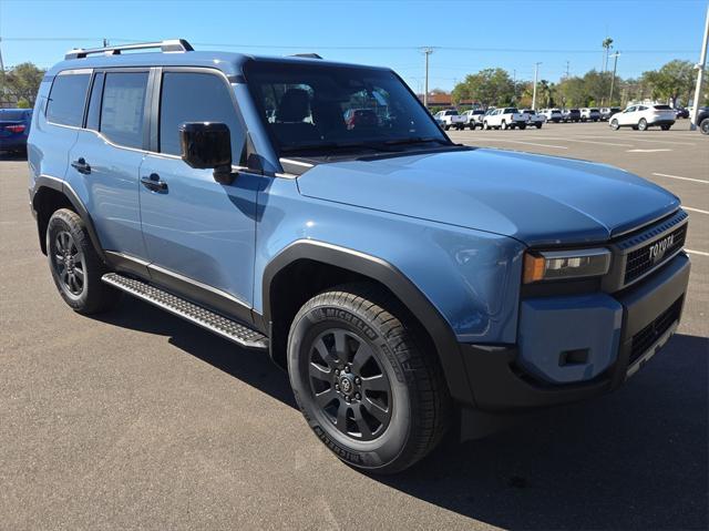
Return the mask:
<svg viewBox="0 0 709 531">
<path fill-rule="evenodd" d="M 395 266 L 358 251 L 312 239 L 298 239 L 277 254 L 264 269 L 264 320 L 271 321 L 270 287 L 276 276 L 292 263 L 310 259 L 372 278 L 384 285 L 431 336 L 454 400 L 473 405 L 461 348 L 453 330 L 429 298 Z"/>
</svg>

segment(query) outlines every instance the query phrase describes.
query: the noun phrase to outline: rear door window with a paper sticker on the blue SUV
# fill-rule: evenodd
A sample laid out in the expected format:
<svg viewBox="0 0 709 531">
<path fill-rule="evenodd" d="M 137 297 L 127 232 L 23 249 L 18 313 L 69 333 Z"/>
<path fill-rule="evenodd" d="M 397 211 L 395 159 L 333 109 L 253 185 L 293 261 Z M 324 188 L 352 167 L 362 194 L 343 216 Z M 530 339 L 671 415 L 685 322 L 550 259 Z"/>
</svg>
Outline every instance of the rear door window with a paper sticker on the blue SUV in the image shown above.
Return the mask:
<svg viewBox="0 0 709 531">
<path fill-rule="evenodd" d="M 147 72 L 106 73 L 100 131 L 111 142 L 143 146 L 143 110 Z"/>
</svg>

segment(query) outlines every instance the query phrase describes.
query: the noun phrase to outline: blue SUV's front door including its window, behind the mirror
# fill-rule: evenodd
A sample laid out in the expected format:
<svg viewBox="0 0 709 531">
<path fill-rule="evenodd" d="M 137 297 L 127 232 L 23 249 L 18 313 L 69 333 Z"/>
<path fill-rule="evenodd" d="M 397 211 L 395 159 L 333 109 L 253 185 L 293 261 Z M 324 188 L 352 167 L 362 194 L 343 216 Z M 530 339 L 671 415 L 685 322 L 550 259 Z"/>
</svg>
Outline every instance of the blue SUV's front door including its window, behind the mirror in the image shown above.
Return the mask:
<svg viewBox="0 0 709 531">
<path fill-rule="evenodd" d="M 151 275 L 162 283 L 174 280 L 191 294 L 226 295 L 250 308 L 261 177 L 239 173 L 232 184 L 217 183 L 212 170 L 194 170 L 182 161 L 178 135 L 184 122 L 224 122 L 238 163 L 246 130 L 232 86 L 207 69 L 164 69 L 160 83 L 156 153 L 146 155 L 140 171 Z"/>
</svg>

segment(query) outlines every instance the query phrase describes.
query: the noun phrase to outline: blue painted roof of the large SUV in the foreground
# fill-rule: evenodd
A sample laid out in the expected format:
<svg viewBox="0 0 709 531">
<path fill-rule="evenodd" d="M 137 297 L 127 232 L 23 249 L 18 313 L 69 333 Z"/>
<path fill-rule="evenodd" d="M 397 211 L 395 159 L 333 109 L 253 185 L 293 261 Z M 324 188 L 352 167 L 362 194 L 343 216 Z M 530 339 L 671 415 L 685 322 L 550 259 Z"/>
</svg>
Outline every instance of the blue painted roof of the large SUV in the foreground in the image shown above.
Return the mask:
<svg viewBox="0 0 709 531">
<path fill-rule="evenodd" d="M 71 55 L 72 53 L 75 54 L 75 52 L 69 52 L 68 55 Z M 64 61 L 54 64 L 47 73 L 48 75 L 55 75 L 63 70 L 97 69 L 111 67 L 202 67 L 216 68 L 224 72 L 228 78 L 238 78 L 243 75 L 243 68 L 249 61 L 291 64 L 327 64 L 331 67 L 357 67 L 376 70 L 390 70 L 382 67 L 367 67 L 361 64 L 348 64 L 335 61 L 326 61 L 322 59 L 315 59 L 312 57 L 249 55 L 244 53 L 220 51 L 171 51 L 125 54 L 90 54 L 88 57 L 76 59 L 65 59 Z"/>
</svg>

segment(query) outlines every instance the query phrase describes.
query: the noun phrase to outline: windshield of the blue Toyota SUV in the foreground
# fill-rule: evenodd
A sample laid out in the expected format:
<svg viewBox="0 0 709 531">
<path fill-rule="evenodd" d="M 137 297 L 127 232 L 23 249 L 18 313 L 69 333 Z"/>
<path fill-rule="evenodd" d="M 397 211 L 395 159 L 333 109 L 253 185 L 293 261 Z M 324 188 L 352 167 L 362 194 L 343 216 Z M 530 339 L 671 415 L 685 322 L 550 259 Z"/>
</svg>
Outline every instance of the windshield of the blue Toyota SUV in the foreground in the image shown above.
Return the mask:
<svg viewBox="0 0 709 531">
<path fill-rule="evenodd" d="M 280 152 L 423 142 L 451 145 L 393 72 L 251 62 L 245 73 Z"/>
</svg>

